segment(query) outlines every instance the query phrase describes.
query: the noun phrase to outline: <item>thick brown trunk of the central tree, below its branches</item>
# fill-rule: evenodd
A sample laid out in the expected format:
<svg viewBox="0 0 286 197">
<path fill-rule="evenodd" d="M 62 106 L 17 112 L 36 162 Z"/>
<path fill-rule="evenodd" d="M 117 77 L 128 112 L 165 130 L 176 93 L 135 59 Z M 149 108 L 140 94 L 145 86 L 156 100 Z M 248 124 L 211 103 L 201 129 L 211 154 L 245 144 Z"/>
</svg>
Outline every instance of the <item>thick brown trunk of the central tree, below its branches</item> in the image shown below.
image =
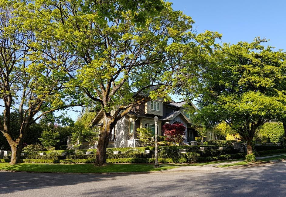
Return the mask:
<svg viewBox="0 0 286 197">
<path fill-rule="evenodd" d="M 104 118 L 103 129 L 100 132 L 99 140 L 97 143 L 96 156 L 95 156 L 95 165 L 101 166 L 106 164 L 106 148 L 109 142 L 109 136 L 112 130 L 112 122 L 109 118 Z"/>
</svg>

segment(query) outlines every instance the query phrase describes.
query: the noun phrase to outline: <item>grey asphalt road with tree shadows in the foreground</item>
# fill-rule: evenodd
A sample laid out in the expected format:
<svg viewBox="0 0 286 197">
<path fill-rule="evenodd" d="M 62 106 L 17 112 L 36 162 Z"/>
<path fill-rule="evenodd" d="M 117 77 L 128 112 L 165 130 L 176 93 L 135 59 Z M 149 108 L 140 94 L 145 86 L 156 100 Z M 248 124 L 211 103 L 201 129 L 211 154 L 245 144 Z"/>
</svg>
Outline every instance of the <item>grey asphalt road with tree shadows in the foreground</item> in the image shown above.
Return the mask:
<svg viewBox="0 0 286 197">
<path fill-rule="evenodd" d="M 286 196 L 286 162 L 137 175 L 0 172 L 0 196 Z"/>
</svg>

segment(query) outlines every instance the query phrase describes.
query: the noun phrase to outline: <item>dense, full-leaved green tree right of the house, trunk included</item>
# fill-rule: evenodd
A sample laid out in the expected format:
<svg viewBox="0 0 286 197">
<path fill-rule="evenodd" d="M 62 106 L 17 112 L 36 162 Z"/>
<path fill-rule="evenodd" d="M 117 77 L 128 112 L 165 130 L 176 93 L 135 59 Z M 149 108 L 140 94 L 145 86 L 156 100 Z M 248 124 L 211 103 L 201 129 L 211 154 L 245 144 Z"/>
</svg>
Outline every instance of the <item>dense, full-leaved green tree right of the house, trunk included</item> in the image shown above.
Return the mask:
<svg viewBox="0 0 286 197">
<path fill-rule="evenodd" d="M 225 121 L 247 142 L 247 154 L 257 128 L 283 110 L 285 53 L 264 47 L 265 39 L 223 44 L 203 70 L 197 119 L 206 126 Z"/>
</svg>

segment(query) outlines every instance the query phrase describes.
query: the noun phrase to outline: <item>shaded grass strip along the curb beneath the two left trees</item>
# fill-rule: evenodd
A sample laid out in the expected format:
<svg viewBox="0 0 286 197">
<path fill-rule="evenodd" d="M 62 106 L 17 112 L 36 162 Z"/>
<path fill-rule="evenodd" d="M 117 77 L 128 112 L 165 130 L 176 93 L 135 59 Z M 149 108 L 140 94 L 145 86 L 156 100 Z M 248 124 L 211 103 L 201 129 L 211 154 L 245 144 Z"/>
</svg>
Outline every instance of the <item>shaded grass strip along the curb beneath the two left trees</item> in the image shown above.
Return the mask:
<svg viewBox="0 0 286 197">
<path fill-rule="evenodd" d="M 31 171 L 31 172 L 74 172 L 74 173 L 97 173 L 97 172 L 143 172 L 160 171 L 177 168 L 176 166 L 162 166 L 153 168 L 147 164 L 107 164 L 106 166 L 95 167 L 94 164 L 40 164 L 20 163 L 10 165 L 0 163 L 0 170 Z"/>
</svg>

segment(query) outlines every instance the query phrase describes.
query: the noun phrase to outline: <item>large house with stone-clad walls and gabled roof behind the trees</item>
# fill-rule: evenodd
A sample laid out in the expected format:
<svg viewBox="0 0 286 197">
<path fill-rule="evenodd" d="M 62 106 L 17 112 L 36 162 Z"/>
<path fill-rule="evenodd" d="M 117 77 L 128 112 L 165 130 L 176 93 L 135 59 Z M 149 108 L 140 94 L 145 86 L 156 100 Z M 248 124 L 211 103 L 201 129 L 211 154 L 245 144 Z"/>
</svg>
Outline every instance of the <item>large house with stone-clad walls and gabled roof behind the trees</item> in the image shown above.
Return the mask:
<svg viewBox="0 0 286 197">
<path fill-rule="evenodd" d="M 162 136 L 162 126 L 164 124 L 182 123 L 186 127 L 184 143 L 186 145 L 190 144 L 190 142 L 195 140 L 198 134 L 192 124 L 192 116 L 186 111 L 184 105 L 185 102 L 164 102 L 163 99 L 157 99 L 134 107 L 131 112 L 121 118 L 115 125 L 109 139 L 108 147 L 139 147 L 140 141 L 138 140 L 138 133 L 136 132 L 137 128 L 151 128 L 155 134 L 155 116 L 159 118 L 157 124 L 159 136 Z M 192 102 L 190 102 L 190 105 L 192 105 L 194 109 L 197 109 Z M 90 123 L 94 131 L 101 130 L 103 126 L 102 117 L 103 112 L 100 110 Z M 204 140 L 213 139 L 214 134 L 208 132 Z M 96 148 L 96 144 L 93 148 Z"/>
</svg>

